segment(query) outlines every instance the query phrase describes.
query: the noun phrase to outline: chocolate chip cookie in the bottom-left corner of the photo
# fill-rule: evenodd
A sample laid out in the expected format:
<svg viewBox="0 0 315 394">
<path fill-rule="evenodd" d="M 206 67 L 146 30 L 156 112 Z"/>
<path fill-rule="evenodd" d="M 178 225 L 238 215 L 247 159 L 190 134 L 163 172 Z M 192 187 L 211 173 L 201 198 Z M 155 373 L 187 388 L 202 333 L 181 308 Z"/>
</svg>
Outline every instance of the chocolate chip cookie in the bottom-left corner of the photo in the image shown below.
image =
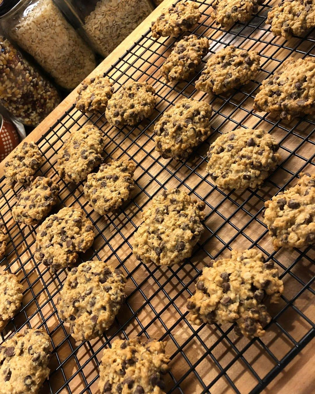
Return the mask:
<svg viewBox="0 0 315 394">
<path fill-rule="evenodd" d="M 3 394 L 36 394 L 50 369 L 51 343 L 45 331 L 25 329 L 0 347 L 0 387 Z"/>
</svg>

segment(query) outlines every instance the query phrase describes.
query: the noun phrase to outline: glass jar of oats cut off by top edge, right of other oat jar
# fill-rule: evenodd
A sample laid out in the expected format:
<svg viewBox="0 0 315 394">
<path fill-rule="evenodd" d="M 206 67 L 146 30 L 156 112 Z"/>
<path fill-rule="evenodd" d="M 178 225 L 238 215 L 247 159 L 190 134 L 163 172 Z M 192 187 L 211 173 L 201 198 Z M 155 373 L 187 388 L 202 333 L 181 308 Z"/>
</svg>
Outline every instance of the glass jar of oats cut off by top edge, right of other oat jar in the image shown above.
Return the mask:
<svg viewBox="0 0 315 394">
<path fill-rule="evenodd" d="M 63 0 L 106 58 L 154 9 L 150 0 Z"/>
</svg>

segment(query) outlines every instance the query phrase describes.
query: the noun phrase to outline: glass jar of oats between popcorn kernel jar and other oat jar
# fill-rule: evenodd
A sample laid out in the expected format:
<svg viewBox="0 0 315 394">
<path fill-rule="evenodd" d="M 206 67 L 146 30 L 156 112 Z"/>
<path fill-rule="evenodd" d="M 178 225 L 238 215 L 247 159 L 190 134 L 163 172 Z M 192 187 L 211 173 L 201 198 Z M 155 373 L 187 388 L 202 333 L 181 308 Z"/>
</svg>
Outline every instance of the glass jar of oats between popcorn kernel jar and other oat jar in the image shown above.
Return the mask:
<svg viewBox="0 0 315 394">
<path fill-rule="evenodd" d="M 4 0 L 0 13 L 0 24 L 8 38 L 30 54 L 61 87 L 74 89 L 95 69 L 93 50 L 53 0 Z"/>
</svg>

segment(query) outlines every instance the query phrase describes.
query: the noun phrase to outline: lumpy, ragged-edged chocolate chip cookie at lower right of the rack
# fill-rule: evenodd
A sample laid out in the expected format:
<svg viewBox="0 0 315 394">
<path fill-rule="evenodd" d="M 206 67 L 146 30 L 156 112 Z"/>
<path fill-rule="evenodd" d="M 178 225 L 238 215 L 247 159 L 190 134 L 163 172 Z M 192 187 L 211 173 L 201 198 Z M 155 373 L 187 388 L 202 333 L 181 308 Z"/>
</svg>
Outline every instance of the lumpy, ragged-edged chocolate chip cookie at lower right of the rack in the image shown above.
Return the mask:
<svg viewBox="0 0 315 394">
<path fill-rule="evenodd" d="M 230 258 L 209 262 L 187 300 L 188 320 L 202 323 L 237 323 L 237 335 L 262 336 L 271 316 L 263 301 L 278 302 L 283 283 L 272 261 L 265 262 L 256 249 L 232 250 Z"/>
</svg>

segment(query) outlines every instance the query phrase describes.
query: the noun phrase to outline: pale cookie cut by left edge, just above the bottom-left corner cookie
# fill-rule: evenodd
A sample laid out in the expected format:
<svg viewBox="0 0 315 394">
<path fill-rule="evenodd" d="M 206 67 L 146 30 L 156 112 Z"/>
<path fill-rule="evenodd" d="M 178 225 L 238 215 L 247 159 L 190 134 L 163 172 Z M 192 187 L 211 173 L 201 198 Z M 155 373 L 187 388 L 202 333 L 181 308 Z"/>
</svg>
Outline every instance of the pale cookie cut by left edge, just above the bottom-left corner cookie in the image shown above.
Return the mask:
<svg viewBox="0 0 315 394">
<path fill-rule="evenodd" d="M 23 286 L 13 273 L 0 273 L 0 332 L 19 309 L 23 298 L 22 292 Z"/>
</svg>

